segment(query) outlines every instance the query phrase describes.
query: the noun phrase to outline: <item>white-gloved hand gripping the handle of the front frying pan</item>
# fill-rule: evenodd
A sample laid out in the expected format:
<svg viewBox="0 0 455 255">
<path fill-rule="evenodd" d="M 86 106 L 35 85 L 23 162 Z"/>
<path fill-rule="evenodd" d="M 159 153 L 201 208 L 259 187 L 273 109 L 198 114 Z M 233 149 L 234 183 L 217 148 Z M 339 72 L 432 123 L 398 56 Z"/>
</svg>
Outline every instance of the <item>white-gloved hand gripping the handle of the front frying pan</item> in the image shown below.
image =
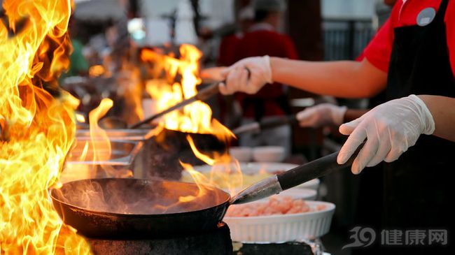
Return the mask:
<svg viewBox="0 0 455 255">
<path fill-rule="evenodd" d="M 395 161 L 421 134 L 430 135 L 434 131 L 433 116 L 418 96 L 388 101 L 339 127 L 339 132 L 349 138 L 339 151 L 337 162 L 345 163 L 367 139 L 351 168 L 352 173 L 358 174 L 365 166 Z"/>
</svg>

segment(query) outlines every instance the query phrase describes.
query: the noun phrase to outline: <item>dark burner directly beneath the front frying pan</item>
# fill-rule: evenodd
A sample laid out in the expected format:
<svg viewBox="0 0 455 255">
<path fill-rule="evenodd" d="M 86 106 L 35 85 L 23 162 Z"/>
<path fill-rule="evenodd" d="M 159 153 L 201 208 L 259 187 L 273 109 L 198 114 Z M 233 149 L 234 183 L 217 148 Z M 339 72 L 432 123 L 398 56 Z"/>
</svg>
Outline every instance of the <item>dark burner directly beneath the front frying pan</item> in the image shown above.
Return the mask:
<svg viewBox="0 0 455 255">
<path fill-rule="evenodd" d="M 153 240 L 98 240 L 89 239 L 96 255 L 141 254 L 232 254 L 232 240 L 226 224 L 216 231 L 178 238 Z"/>
</svg>

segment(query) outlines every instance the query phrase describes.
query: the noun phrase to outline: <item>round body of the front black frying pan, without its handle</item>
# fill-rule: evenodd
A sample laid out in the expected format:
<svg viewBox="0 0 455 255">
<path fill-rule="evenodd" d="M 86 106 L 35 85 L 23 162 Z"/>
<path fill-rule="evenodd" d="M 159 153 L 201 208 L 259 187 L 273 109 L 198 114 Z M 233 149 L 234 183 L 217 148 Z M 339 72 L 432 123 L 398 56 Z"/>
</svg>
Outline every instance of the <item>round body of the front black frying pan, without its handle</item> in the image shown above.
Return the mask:
<svg viewBox="0 0 455 255">
<path fill-rule="evenodd" d="M 225 191 L 209 190 L 192 202 L 172 206 L 180 196 L 198 192 L 196 184 L 184 182 L 108 178 L 67 182 L 50 196 L 65 224 L 87 238 L 131 239 L 216 228 L 230 200 Z M 169 209 L 154 209 L 156 205 Z"/>
</svg>

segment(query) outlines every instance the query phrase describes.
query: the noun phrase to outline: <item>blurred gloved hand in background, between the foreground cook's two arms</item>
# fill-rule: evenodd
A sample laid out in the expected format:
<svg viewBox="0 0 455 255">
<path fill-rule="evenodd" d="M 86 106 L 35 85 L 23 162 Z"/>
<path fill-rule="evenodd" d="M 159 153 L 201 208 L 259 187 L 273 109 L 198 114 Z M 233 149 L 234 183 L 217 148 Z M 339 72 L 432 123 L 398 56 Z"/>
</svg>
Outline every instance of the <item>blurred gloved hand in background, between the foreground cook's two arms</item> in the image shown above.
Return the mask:
<svg viewBox="0 0 455 255">
<path fill-rule="evenodd" d="M 346 106 L 321 103 L 297 113 L 297 120 L 302 127 L 339 126 L 343 123 L 346 110 Z"/>
</svg>

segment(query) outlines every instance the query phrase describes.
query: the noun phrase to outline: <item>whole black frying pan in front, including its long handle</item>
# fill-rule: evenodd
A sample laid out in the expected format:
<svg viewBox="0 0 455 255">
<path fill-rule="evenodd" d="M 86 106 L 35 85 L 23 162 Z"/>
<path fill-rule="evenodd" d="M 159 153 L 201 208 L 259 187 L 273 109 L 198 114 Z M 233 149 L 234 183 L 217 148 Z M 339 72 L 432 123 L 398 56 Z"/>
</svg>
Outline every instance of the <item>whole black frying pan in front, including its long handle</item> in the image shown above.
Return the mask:
<svg viewBox="0 0 455 255">
<path fill-rule="evenodd" d="M 50 197 L 65 224 L 87 238 L 131 239 L 200 233 L 216 228 L 229 205 L 248 203 L 278 194 L 299 184 L 350 166 L 360 147 L 346 163 L 338 152 L 273 175 L 234 197 L 209 187 L 197 196 L 197 184 L 165 180 L 90 179 L 67 182 L 51 189 Z"/>
</svg>

